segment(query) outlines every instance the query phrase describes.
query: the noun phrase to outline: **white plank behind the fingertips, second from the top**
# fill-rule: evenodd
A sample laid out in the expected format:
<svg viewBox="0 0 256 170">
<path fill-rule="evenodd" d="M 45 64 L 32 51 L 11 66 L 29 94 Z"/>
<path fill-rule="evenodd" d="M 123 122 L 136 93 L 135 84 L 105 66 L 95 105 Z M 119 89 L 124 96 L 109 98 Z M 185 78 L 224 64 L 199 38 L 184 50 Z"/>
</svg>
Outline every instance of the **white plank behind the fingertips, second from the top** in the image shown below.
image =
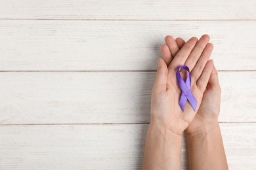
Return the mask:
<svg viewBox="0 0 256 170">
<path fill-rule="evenodd" d="M 256 70 L 256 21 L 0 20 L 1 71 L 152 71 L 166 35 L 208 33 L 219 70 Z"/>
</svg>

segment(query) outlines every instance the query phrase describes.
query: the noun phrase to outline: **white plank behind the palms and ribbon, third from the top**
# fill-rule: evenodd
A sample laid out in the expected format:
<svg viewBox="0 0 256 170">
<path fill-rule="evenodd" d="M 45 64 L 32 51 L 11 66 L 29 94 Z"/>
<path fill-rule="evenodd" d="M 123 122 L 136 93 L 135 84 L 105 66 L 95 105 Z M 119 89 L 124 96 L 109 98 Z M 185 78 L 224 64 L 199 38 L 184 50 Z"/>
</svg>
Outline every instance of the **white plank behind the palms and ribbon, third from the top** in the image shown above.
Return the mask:
<svg viewBox="0 0 256 170">
<path fill-rule="evenodd" d="M 148 123 L 154 72 L 0 73 L 0 124 Z M 256 121 L 256 72 L 219 73 L 220 122 Z"/>
</svg>

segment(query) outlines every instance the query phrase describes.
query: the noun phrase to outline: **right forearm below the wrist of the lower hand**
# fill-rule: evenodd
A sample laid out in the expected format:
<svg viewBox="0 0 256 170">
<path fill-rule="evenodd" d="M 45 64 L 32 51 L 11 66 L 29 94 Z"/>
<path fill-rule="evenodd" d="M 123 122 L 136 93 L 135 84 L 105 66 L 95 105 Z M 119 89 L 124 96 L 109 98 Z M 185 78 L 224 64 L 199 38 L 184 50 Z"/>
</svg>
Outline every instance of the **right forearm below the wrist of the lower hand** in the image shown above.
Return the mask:
<svg viewBox="0 0 256 170">
<path fill-rule="evenodd" d="M 219 123 L 187 134 L 190 169 L 228 169 Z"/>
</svg>

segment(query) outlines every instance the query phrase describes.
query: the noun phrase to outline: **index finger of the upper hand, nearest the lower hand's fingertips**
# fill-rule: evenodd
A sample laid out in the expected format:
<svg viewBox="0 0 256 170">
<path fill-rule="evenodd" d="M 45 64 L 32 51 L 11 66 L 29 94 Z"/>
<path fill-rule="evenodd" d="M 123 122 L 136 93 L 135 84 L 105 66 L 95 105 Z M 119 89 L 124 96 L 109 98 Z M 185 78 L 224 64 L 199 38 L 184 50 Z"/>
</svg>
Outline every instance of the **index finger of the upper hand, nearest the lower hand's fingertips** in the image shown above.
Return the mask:
<svg viewBox="0 0 256 170">
<path fill-rule="evenodd" d="M 169 69 L 176 70 L 180 65 L 184 65 L 186 59 L 188 58 L 190 52 L 192 52 L 194 46 L 198 42 L 196 37 L 192 37 L 184 44 L 181 50 L 176 54 L 175 58 L 171 62 Z"/>
</svg>

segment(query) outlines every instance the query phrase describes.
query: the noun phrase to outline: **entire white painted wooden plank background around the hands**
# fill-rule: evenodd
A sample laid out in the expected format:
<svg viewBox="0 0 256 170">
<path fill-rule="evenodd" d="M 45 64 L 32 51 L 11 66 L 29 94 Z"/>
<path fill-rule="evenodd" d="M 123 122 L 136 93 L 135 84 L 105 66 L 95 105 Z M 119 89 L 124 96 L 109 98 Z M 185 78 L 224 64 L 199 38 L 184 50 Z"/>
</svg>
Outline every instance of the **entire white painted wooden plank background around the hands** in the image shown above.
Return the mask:
<svg viewBox="0 0 256 170">
<path fill-rule="evenodd" d="M 163 38 L 205 33 L 229 168 L 256 169 L 256 1 L 0 4 L 0 169 L 141 169 Z"/>
</svg>

